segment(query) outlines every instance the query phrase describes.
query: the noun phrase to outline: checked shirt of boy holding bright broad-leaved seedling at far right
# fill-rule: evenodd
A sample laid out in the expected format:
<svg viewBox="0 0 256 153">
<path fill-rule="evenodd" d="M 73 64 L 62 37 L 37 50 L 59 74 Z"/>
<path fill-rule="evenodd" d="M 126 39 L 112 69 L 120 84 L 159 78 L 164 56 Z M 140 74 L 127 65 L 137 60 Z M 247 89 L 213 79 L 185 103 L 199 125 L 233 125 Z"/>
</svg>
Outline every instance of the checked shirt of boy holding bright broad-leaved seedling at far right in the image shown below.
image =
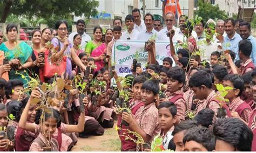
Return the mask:
<svg viewBox="0 0 256 153">
<path fill-rule="evenodd" d="M 233 101 L 230 102 L 230 104 L 228 105 L 228 108 L 230 109 L 230 111 L 234 112 L 238 108 L 238 106 L 241 105 L 243 102 L 244 101 L 242 101 L 238 96 L 237 98 L 235 98 Z M 240 117 L 242 120 L 248 123 L 250 114 L 251 114 L 251 110 L 246 108 L 242 111 L 242 114 Z"/>
</svg>

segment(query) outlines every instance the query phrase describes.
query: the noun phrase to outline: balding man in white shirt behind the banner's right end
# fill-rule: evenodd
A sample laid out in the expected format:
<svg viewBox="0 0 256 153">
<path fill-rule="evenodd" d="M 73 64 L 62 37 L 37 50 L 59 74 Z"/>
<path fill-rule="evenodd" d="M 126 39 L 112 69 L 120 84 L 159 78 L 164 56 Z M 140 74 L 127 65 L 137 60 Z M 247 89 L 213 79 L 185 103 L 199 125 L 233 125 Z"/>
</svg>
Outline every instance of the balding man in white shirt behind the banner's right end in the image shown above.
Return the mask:
<svg viewBox="0 0 256 153">
<path fill-rule="evenodd" d="M 165 15 L 165 25 L 166 25 L 166 27 L 158 32 L 158 40 L 169 42 L 170 39 L 166 34 L 170 30 L 174 30 L 175 35 L 172 38 L 173 43 L 176 43 L 178 40 L 183 41 L 183 34 L 181 36 L 178 29 L 173 26 L 174 23 L 175 23 L 175 18 L 174 18 L 173 13 L 172 12 L 166 13 L 166 15 Z"/>
</svg>

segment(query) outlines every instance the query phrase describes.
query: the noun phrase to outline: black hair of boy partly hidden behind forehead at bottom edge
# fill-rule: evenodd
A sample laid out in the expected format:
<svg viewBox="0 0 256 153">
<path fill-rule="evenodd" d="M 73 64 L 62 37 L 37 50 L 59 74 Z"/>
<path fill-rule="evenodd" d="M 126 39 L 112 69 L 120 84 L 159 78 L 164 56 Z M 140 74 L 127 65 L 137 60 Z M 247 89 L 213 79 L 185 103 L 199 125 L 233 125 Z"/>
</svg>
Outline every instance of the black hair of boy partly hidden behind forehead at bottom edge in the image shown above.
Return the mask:
<svg viewBox="0 0 256 153">
<path fill-rule="evenodd" d="M 182 121 L 177 126 L 174 126 L 174 130 L 172 131 L 172 135 L 174 136 L 174 135 L 176 135 L 177 133 L 179 133 L 181 131 L 185 131 L 185 130 L 195 128 L 195 127 L 198 127 L 198 124 L 194 120 Z"/>
</svg>

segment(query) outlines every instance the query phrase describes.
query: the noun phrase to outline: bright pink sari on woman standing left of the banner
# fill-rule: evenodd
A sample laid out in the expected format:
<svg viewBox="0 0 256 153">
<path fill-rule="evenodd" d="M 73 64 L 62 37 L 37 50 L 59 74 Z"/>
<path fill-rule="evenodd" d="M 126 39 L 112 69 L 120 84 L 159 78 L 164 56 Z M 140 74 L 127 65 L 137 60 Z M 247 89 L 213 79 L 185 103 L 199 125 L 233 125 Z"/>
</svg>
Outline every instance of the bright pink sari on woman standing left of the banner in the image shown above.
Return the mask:
<svg viewBox="0 0 256 153">
<path fill-rule="evenodd" d="M 96 47 L 95 50 L 92 51 L 91 57 L 99 57 L 100 55 L 105 54 L 106 47 L 107 47 L 106 44 L 102 43 L 101 45 Z M 95 69 L 94 72 L 100 70 L 100 68 L 103 68 L 104 62 L 103 62 L 103 60 L 98 60 L 98 61 L 95 61 L 95 65 L 97 66 L 97 68 Z"/>
</svg>

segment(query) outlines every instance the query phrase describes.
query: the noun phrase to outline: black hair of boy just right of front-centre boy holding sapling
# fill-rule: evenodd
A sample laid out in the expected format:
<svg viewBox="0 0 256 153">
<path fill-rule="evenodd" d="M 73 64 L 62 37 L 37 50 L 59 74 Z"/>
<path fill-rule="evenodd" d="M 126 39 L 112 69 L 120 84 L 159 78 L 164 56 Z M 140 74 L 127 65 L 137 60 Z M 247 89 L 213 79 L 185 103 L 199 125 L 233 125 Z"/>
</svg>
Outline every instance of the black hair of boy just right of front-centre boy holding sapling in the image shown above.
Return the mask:
<svg viewBox="0 0 256 153">
<path fill-rule="evenodd" d="M 167 77 L 172 78 L 173 80 L 179 81 L 179 83 L 185 84 L 186 80 L 186 75 L 183 69 L 179 67 L 172 67 L 170 70 L 167 72 Z"/>
</svg>

